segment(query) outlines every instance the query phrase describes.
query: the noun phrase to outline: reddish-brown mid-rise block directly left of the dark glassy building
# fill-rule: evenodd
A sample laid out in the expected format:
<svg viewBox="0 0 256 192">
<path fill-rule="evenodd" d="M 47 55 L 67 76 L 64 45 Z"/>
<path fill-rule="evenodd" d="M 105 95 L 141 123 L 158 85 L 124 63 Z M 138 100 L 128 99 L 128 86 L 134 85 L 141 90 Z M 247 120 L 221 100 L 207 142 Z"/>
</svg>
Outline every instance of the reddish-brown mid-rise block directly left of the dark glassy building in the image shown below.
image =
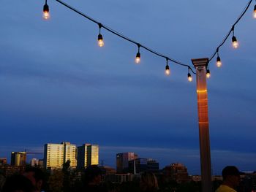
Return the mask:
<svg viewBox="0 0 256 192">
<path fill-rule="evenodd" d="M 138 158 L 138 155 L 133 152 L 118 153 L 116 154 L 116 172 L 127 173 L 129 172 L 129 161 Z"/>
</svg>

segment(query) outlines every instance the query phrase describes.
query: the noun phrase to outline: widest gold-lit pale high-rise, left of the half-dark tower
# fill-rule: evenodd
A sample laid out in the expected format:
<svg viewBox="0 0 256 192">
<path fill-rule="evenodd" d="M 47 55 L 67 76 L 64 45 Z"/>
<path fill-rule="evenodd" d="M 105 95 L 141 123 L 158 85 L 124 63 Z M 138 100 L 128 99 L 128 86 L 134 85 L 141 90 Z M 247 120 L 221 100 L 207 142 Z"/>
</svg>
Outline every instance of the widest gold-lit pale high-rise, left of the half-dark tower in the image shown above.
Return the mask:
<svg viewBox="0 0 256 192">
<path fill-rule="evenodd" d="M 45 144 L 45 169 L 61 168 L 67 161 L 70 162 L 70 167 L 75 168 L 77 165 L 75 145 L 70 144 L 70 142 L 61 142 L 61 144 Z"/>
</svg>

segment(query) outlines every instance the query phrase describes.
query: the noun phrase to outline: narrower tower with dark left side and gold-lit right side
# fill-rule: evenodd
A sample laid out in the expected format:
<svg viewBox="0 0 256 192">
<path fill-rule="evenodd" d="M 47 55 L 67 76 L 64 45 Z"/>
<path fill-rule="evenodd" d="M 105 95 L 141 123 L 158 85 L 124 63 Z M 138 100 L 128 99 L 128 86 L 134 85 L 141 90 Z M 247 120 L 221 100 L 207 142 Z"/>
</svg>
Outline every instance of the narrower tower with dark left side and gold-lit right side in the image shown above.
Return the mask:
<svg viewBox="0 0 256 192">
<path fill-rule="evenodd" d="M 99 164 L 99 145 L 83 144 L 78 147 L 78 169 Z"/>
</svg>

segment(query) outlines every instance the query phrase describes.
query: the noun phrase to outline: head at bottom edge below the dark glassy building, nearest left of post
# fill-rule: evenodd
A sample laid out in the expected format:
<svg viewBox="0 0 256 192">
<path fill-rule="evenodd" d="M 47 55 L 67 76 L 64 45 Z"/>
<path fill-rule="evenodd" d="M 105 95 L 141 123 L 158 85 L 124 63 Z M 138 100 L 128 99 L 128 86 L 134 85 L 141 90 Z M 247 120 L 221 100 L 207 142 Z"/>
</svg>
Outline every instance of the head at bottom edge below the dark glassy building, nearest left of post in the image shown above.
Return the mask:
<svg viewBox="0 0 256 192">
<path fill-rule="evenodd" d="M 151 172 L 143 172 L 140 179 L 140 189 L 142 191 L 157 191 L 157 177 Z"/>
</svg>

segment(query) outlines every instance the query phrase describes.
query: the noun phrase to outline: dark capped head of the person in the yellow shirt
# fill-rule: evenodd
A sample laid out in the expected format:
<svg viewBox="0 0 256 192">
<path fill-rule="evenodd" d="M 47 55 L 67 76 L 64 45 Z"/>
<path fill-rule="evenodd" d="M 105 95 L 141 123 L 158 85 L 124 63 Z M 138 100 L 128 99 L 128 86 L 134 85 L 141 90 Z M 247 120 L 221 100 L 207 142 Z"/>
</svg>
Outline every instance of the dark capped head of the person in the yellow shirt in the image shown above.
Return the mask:
<svg viewBox="0 0 256 192">
<path fill-rule="evenodd" d="M 225 184 L 229 185 L 232 188 L 236 188 L 240 183 L 240 175 L 243 174 L 239 172 L 236 166 L 226 166 L 222 170 L 222 177 Z"/>
</svg>

